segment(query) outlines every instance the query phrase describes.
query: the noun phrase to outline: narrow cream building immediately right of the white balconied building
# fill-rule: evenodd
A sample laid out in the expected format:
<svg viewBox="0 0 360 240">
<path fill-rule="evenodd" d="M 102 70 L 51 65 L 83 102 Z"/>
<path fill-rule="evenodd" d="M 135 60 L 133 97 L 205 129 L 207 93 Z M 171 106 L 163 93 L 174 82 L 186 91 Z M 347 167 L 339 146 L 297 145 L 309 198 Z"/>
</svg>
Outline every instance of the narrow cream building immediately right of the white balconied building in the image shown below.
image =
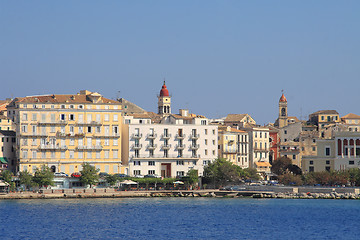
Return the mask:
<svg viewBox="0 0 360 240">
<path fill-rule="evenodd" d="M 219 158 L 225 158 L 242 168 L 249 167 L 249 134 L 245 131 L 219 127 Z"/>
</svg>

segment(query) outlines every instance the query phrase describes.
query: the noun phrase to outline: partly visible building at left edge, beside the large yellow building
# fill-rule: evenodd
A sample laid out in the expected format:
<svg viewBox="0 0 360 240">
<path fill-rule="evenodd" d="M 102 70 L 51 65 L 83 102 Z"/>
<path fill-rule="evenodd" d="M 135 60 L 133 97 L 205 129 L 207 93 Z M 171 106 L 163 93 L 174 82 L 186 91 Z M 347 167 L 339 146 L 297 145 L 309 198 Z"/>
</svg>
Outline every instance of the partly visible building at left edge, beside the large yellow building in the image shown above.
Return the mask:
<svg viewBox="0 0 360 240">
<path fill-rule="evenodd" d="M 16 135 L 14 131 L 0 130 L 0 172 L 15 171 L 16 163 Z"/>
</svg>

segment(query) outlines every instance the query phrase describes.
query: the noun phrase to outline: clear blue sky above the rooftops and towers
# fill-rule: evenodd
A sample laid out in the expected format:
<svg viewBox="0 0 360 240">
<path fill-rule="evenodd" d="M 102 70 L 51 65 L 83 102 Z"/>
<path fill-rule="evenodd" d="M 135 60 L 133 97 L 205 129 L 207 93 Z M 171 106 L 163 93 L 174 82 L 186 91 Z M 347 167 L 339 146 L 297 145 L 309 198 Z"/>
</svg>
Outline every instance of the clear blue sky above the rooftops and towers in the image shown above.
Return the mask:
<svg viewBox="0 0 360 240">
<path fill-rule="evenodd" d="M 1 99 L 120 96 L 172 110 L 360 114 L 360 1 L 1 1 Z M 302 116 L 301 116 L 302 115 Z"/>
</svg>

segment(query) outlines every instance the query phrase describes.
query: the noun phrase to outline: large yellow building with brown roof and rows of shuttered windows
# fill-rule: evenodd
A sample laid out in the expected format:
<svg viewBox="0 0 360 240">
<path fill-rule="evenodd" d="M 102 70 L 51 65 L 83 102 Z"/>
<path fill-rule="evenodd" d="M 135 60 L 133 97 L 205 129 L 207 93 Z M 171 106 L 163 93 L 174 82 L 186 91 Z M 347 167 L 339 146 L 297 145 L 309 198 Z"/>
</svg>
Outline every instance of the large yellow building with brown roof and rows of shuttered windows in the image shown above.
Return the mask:
<svg viewBox="0 0 360 240">
<path fill-rule="evenodd" d="M 121 103 L 86 90 L 78 94 L 15 98 L 7 107 L 16 126 L 17 171 L 123 173 Z"/>
</svg>

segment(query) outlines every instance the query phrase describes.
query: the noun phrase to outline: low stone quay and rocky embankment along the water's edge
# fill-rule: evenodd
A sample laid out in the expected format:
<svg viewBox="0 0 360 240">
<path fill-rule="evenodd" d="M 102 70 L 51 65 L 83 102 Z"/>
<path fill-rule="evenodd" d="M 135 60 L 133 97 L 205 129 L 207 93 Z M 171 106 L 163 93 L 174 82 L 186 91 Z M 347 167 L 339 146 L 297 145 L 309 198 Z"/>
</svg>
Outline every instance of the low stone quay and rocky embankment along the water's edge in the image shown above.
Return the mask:
<svg viewBox="0 0 360 240">
<path fill-rule="evenodd" d="M 274 187 L 247 186 L 239 191 L 205 190 L 149 190 L 116 191 L 114 188 L 44 189 L 10 192 L 0 199 L 55 199 L 55 198 L 137 198 L 137 197 L 253 197 L 304 199 L 360 199 L 359 188 L 333 187 Z"/>
</svg>

